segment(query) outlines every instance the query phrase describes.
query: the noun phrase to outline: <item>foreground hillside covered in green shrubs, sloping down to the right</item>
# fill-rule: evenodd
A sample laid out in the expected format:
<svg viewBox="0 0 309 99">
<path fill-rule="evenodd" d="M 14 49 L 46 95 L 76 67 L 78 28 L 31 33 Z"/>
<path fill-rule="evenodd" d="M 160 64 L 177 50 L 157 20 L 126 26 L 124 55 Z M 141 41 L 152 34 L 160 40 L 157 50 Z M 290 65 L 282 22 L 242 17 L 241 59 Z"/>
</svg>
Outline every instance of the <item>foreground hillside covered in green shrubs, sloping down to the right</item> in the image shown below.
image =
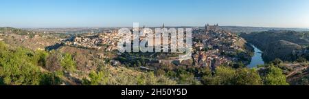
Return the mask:
<svg viewBox="0 0 309 99">
<path fill-rule="evenodd" d="M 32 51 L 0 41 L 0 85 L 175 85 L 174 80 L 96 61 L 95 68 L 80 64 L 78 54 L 66 50 Z M 80 52 L 84 61 L 92 54 Z"/>
</svg>

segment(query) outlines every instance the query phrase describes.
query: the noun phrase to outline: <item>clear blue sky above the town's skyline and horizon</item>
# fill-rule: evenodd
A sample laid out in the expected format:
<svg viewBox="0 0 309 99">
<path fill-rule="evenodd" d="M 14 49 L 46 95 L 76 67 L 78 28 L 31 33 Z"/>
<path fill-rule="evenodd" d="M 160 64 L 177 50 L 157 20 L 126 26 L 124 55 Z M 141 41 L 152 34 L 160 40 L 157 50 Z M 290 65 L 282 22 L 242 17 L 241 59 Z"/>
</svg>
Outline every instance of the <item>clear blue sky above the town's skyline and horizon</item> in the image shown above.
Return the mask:
<svg viewBox="0 0 309 99">
<path fill-rule="evenodd" d="M 219 25 L 309 28 L 308 0 L 1 0 L 0 27 Z"/>
</svg>

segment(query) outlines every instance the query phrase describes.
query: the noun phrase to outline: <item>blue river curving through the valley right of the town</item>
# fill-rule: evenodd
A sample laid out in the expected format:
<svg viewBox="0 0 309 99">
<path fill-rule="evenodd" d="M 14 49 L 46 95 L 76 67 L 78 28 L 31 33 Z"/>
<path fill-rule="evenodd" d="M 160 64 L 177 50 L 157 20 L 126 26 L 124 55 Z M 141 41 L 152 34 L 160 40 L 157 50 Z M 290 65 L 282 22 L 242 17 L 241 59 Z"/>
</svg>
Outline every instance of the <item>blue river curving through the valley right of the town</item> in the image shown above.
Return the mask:
<svg viewBox="0 0 309 99">
<path fill-rule="evenodd" d="M 262 58 L 262 51 L 259 50 L 254 45 L 252 45 L 252 47 L 254 48 L 254 56 L 252 57 L 251 63 L 250 65 L 248 65 L 248 67 L 253 68 L 253 67 L 257 67 L 257 65 L 264 65 L 264 61 Z"/>
</svg>

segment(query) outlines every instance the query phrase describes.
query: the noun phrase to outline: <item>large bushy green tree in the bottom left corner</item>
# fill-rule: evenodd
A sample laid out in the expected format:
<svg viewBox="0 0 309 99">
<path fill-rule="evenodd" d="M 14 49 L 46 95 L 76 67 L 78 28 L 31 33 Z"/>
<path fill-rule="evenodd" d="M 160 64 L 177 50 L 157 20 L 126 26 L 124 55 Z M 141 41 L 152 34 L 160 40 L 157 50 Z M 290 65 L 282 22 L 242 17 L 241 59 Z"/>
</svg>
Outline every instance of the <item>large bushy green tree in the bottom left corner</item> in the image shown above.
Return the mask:
<svg viewBox="0 0 309 99">
<path fill-rule="evenodd" d="M 40 69 L 32 64 L 28 53 L 28 50 L 19 47 L 1 58 L 0 76 L 5 85 L 39 85 Z"/>
</svg>

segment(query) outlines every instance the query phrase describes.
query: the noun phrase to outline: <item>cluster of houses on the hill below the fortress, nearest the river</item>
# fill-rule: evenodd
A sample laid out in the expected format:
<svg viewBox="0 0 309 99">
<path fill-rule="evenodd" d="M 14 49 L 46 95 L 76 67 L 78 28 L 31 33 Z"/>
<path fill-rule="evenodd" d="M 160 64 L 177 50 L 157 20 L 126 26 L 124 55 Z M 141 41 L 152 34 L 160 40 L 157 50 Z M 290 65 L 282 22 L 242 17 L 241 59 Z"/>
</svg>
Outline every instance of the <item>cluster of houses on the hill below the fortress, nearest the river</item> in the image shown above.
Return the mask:
<svg viewBox="0 0 309 99">
<path fill-rule="evenodd" d="M 229 64 L 238 61 L 236 57 L 229 57 L 226 54 L 244 50 L 236 45 L 242 39 L 230 32 L 220 30 L 218 25 L 205 25 L 205 30 L 194 30 L 195 39 L 192 58 L 198 67 L 216 67 L 223 63 Z"/>
</svg>

